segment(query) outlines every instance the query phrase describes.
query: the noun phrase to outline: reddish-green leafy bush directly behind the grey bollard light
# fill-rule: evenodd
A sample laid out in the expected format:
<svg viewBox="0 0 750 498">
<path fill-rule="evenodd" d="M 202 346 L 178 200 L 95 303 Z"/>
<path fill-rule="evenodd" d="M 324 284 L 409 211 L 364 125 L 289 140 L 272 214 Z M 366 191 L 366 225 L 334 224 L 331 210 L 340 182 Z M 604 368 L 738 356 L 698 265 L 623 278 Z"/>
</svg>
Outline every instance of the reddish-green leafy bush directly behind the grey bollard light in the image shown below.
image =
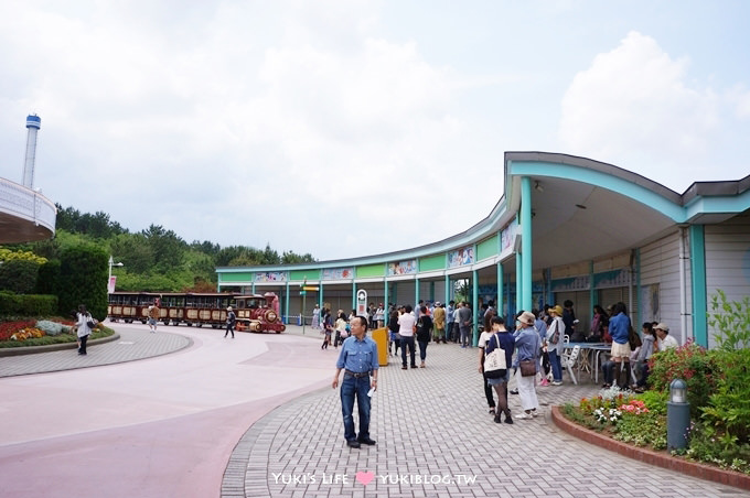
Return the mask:
<svg viewBox="0 0 750 498">
<path fill-rule="evenodd" d="M 654 354 L 649 360 L 649 383 L 657 391 L 668 393 L 669 383 L 675 379 L 687 383 L 687 401 L 694 419 L 708 404 L 708 398 L 720 380 L 714 355 L 690 340 L 681 347 Z"/>
</svg>

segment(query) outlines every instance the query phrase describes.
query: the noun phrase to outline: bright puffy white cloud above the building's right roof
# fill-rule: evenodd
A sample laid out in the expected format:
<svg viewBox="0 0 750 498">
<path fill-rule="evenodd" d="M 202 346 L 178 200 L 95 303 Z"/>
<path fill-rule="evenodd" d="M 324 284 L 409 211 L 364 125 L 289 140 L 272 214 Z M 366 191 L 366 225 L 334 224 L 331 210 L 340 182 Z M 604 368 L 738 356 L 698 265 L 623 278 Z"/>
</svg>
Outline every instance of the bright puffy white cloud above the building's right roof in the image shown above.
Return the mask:
<svg viewBox="0 0 750 498">
<path fill-rule="evenodd" d="M 634 170 L 646 161 L 650 177 L 674 183 L 653 174 L 653 165 L 667 172 L 707 161 L 719 127 L 720 99 L 688 85 L 688 66 L 654 39 L 629 33 L 568 87 L 559 124 L 564 149 Z"/>
</svg>

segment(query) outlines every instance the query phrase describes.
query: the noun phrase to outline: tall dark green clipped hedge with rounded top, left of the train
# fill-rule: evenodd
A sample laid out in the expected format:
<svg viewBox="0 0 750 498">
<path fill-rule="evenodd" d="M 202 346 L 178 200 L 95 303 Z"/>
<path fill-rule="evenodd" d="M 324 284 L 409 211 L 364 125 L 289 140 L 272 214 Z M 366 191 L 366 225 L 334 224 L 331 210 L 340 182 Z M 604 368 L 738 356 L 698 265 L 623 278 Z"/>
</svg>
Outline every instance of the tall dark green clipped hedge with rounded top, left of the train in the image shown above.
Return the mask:
<svg viewBox="0 0 750 498">
<path fill-rule="evenodd" d="M 107 317 L 107 253 L 96 246 L 63 250 L 60 258 L 60 312 L 67 315 L 85 304 L 97 320 Z"/>
</svg>

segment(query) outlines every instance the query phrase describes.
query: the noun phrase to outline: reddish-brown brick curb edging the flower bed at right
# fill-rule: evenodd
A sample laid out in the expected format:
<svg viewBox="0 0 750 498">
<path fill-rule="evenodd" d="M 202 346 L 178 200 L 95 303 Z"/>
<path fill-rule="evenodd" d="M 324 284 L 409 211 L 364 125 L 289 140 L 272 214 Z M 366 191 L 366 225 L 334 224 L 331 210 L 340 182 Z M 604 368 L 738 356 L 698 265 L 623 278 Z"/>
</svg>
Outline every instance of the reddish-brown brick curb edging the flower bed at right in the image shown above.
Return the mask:
<svg viewBox="0 0 750 498">
<path fill-rule="evenodd" d="M 669 470 L 676 470 L 682 474 L 698 477 L 699 479 L 712 480 L 714 483 L 721 483 L 727 486 L 735 486 L 740 489 L 750 490 L 749 475 L 733 470 L 725 470 L 722 468 L 700 464 L 697 462 L 690 462 L 684 458 L 677 458 L 667 453 L 658 453 L 654 452 L 653 450 L 631 446 L 569 421 L 562 415 L 559 407 L 553 407 L 551 409 L 553 422 L 555 422 L 555 425 L 557 425 L 561 431 L 583 440 L 587 443 L 603 447 L 610 452 L 619 453 L 629 458 L 643 462 L 644 464 L 656 465 L 658 467 L 668 468 Z"/>
</svg>

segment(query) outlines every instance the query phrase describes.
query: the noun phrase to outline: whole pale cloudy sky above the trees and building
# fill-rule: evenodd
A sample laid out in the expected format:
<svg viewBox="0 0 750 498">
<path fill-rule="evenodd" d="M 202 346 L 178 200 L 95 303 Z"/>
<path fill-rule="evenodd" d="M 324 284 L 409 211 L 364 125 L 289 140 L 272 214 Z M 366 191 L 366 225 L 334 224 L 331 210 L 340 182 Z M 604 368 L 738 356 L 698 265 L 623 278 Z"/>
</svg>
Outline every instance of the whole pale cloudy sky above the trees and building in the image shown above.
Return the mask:
<svg viewBox="0 0 750 498">
<path fill-rule="evenodd" d="M 188 242 L 319 260 L 436 242 L 503 153 L 683 193 L 750 173 L 750 2 L 0 0 L 0 177 Z"/>
</svg>

